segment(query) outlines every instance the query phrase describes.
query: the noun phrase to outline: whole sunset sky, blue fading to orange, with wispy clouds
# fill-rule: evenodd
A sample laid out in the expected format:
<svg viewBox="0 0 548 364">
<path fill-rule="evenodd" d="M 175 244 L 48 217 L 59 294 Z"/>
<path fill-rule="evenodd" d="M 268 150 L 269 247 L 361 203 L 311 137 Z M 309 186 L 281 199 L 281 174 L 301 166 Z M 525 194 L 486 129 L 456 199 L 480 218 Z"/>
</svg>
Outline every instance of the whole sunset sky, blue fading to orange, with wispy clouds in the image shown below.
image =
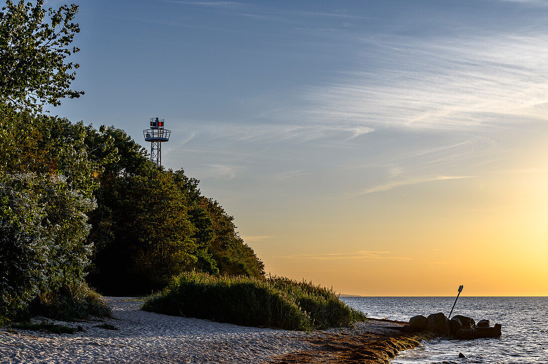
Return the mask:
<svg viewBox="0 0 548 364">
<path fill-rule="evenodd" d="M 60 1 L 46 5 L 59 6 Z M 184 169 L 271 274 L 548 296 L 548 1 L 81 0 L 53 114 Z"/>
</svg>

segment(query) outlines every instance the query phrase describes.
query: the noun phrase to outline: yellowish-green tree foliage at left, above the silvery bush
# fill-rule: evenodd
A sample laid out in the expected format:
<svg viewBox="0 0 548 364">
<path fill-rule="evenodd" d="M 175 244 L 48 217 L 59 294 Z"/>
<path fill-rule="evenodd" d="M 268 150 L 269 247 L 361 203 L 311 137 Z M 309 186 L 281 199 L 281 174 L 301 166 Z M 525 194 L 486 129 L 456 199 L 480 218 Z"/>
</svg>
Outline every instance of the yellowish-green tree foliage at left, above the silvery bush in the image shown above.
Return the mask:
<svg viewBox="0 0 548 364">
<path fill-rule="evenodd" d="M 0 173 L 60 175 L 71 189 L 92 197 L 96 177 L 116 158 L 112 138 L 79 122 L 16 112 L 0 102 Z"/>
</svg>

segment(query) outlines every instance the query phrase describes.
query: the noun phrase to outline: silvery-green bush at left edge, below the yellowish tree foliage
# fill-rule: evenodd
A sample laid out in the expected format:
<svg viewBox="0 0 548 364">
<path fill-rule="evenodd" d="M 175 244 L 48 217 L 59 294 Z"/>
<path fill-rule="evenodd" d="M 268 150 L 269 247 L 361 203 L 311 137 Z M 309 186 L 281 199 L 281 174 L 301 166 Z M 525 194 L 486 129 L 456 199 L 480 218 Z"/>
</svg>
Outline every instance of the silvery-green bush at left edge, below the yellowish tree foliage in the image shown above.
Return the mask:
<svg viewBox="0 0 548 364">
<path fill-rule="evenodd" d="M 85 211 L 93 201 L 59 175 L 0 175 L 0 315 L 83 282 L 89 246 Z"/>
</svg>

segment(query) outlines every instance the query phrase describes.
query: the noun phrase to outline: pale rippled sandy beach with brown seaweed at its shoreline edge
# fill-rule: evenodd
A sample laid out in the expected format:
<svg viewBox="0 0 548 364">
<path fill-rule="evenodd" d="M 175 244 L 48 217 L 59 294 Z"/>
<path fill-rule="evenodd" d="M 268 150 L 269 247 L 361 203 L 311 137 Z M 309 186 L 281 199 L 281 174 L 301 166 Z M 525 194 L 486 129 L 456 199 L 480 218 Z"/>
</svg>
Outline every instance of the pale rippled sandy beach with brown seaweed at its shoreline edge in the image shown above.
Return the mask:
<svg viewBox="0 0 548 364">
<path fill-rule="evenodd" d="M 86 331 L 0 331 L 0 363 L 254 364 L 324 362 L 329 358 L 330 362 L 354 362 L 339 361 L 343 360 L 341 350 L 401 336 L 389 328 L 398 325 L 394 322 L 369 321 L 354 328 L 299 332 L 149 313 L 140 310 L 142 302 L 133 298 L 106 300 L 113 309 L 110 319 L 55 322 L 75 328 L 82 325 Z M 119 330 L 99 326 L 105 323 Z M 367 362 L 367 357 L 361 359 L 359 362 Z"/>
</svg>

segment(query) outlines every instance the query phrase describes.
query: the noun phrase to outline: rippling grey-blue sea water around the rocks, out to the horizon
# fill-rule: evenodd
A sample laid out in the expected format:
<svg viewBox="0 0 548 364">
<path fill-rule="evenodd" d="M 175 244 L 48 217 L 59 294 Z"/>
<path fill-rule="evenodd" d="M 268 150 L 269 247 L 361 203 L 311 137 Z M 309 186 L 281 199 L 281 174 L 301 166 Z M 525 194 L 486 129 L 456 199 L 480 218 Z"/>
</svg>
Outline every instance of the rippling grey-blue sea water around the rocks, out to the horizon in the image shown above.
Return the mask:
<svg viewBox="0 0 548 364">
<path fill-rule="evenodd" d="M 415 315 L 446 315 L 454 297 L 341 297 L 369 317 L 408 321 Z M 496 339 L 433 340 L 402 351 L 392 364 L 548 364 L 548 297 L 460 297 L 454 315 L 503 325 Z M 459 359 L 459 353 L 466 359 Z"/>
</svg>

